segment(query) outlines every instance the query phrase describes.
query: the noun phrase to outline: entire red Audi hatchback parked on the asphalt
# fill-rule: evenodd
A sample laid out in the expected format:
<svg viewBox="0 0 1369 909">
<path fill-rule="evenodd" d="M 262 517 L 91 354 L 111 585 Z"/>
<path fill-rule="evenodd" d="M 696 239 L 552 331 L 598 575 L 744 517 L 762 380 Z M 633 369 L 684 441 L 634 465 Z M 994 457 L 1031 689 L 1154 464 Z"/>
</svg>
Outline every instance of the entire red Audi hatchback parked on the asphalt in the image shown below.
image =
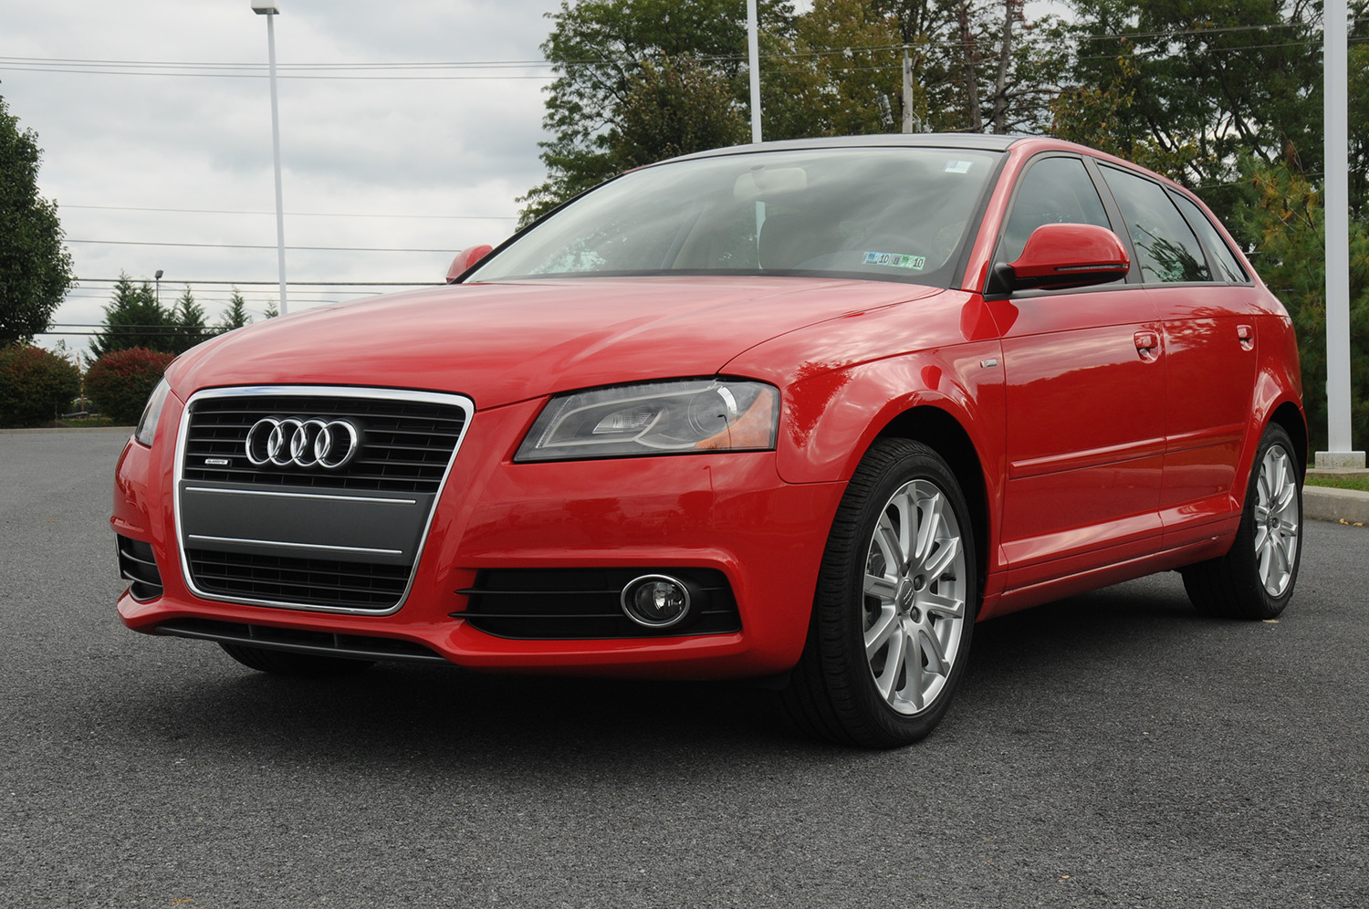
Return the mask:
<svg viewBox="0 0 1369 909">
<path fill-rule="evenodd" d="M 1169 568 L 1277 615 L 1306 438 L 1288 315 L 1155 174 L 719 149 L 181 356 L 118 465 L 119 615 L 285 675 L 769 678 L 901 745 L 979 620 Z"/>
</svg>

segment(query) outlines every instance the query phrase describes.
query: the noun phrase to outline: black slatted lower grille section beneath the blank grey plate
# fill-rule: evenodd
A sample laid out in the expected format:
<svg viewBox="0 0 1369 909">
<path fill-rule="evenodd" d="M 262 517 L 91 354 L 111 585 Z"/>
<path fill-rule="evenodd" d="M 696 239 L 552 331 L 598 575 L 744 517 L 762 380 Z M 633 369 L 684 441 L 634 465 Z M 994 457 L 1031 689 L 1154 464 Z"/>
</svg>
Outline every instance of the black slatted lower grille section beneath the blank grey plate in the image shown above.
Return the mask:
<svg viewBox="0 0 1369 909">
<path fill-rule="evenodd" d="M 252 556 L 186 549 L 196 586 L 230 600 L 267 600 L 345 609 L 392 609 L 409 583 L 408 565 Z"/>
</svg>

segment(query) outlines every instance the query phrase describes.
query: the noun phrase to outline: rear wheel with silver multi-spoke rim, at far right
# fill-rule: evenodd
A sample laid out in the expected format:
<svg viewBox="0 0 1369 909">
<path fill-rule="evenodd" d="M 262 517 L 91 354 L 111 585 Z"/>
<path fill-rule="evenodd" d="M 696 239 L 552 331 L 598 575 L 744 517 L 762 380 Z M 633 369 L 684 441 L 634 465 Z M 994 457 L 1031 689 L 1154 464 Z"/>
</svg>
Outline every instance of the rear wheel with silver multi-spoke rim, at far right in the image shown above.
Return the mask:
<svg viewBox="0 0 1369 909">
<path fill-rule="evenodd" d="M 1292 598 L 1302 560 L 1302 471 L 1292 439 L 1270 424 L 1250 471 L 1246 507 L 1231 552 L 1183 568 L 1198 612 L 1273 619 Z"/>
</svg>

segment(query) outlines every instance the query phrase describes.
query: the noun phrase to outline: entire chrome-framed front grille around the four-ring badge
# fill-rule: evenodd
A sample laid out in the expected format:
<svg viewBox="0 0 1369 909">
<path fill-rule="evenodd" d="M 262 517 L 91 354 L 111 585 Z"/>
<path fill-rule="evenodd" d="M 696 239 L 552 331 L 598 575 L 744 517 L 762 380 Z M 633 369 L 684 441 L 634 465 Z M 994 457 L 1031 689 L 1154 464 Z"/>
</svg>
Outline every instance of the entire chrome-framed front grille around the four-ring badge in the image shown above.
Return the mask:
<svg viewBox="0 0 1369 909">
<path fill-rule="evenodd" d="M 182 422 L 177 476 L 190 590 L 263 606 L 398 609 L 472 412 L 457 394 L 401 389 L 197 392 Z M 285 464 L 253 464 L 266 457 L 267 439 L 259 430 L 249 456 L 248 434 L 267 418 L 297 427 L 346 420 L 356 450 L 335 468 L 298 453 Z"/>
</svg>

